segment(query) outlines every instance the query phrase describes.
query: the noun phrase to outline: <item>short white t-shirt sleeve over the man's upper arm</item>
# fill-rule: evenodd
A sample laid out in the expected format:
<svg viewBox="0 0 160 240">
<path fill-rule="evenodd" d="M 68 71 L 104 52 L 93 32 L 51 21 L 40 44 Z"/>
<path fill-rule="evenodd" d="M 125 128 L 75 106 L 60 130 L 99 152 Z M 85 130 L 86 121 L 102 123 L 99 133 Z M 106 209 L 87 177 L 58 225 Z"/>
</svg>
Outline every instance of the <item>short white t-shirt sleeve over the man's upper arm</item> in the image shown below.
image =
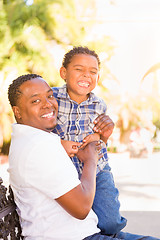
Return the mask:
<svg viewBox="0 0 160 240">
<path fill-rule="evenodd" d="M 25 179 L 29 185 L 56 199 L 80 184 L 78 173 L 60 138 L 49 134 L 28 154 Z"/>
</svg>

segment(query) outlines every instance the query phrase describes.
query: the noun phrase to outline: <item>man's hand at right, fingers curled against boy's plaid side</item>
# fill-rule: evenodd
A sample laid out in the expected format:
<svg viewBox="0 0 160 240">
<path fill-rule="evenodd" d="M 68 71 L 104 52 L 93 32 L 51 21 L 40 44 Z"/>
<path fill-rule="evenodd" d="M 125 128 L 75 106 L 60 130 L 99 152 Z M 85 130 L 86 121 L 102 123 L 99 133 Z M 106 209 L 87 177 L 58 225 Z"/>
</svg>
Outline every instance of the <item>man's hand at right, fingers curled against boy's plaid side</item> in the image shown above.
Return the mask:
<svg viewBox="0 0 160 240">
<path fill-rule="evenodd" d="M 95 126 L 93 130 L 99 133 L 101 139 L 107 143 L 107 140 L 112 134 L 114 128 L 112 119 L 108 115 L 101 114 L 95 119 L 94 124 Z"/>
</svg>

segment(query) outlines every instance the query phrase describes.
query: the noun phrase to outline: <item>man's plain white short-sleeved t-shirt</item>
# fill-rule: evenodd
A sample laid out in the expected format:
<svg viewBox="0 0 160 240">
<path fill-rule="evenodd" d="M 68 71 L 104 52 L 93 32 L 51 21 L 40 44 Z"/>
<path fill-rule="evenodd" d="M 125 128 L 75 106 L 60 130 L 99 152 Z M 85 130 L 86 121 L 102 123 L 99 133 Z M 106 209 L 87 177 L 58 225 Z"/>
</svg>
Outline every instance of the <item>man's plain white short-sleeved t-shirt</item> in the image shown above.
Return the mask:
<svg viewBox="0 0 160 240">
<path fill-rule="evenodd" d="M 99 232 L 92 210 L 79 220 L 54 200 L 80 184 L 60 138 L 22 124 L 12 127 L 8 171 L 25 239 L 81 240 Z"/>
</svg>

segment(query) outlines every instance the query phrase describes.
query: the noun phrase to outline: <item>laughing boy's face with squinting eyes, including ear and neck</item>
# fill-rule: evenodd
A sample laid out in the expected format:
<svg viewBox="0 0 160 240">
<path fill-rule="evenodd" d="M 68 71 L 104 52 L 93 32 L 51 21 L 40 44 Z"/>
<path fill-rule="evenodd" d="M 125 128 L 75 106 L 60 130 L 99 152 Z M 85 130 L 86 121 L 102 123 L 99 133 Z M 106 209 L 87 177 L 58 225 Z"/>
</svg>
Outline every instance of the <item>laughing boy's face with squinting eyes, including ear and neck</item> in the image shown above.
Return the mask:
<svg viewBox="0 0 160 240">
<path fill-rule="evenodd" d="M 70 98 L 81 103 L 88 98 L 99 80 L 98 61 L 92 55 L 76 54 L 67 68 L 61 67 L 60 75 L 66 81 Z"/>
</svg>

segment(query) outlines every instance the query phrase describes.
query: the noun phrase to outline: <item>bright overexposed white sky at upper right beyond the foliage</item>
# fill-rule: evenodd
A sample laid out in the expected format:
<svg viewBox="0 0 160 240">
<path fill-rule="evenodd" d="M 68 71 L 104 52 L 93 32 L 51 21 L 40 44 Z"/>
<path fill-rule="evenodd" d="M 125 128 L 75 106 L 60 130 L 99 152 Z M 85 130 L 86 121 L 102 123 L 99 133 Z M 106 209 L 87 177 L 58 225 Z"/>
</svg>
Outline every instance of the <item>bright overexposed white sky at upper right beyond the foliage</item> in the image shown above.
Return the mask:
<svg viewBox="0 0 160 240">
<path fill-rule="evenodd" d="M 160 62 L 160 1 L 97 1 L 97 32 L 116 41 L 108 67 L 122 91 L 136 94 L 148 69 Z"/>
</svg>

